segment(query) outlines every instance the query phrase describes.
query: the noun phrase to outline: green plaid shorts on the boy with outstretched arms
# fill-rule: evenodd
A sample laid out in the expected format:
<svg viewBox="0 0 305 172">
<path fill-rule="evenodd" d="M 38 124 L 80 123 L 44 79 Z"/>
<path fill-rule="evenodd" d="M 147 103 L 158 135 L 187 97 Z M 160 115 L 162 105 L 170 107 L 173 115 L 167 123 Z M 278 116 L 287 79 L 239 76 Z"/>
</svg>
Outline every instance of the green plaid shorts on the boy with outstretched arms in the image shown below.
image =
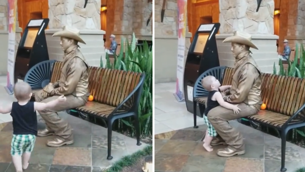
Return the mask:
<svg viewBox="0 0 305 172">
<path fill-rule="evenodd" d="M 27 135 L 13 135 L 11 144 L 11 155 L 22 155 L 24 152 L 32 152 L 35 144 L 36 136 L 32 134 Z"/>
</svg>

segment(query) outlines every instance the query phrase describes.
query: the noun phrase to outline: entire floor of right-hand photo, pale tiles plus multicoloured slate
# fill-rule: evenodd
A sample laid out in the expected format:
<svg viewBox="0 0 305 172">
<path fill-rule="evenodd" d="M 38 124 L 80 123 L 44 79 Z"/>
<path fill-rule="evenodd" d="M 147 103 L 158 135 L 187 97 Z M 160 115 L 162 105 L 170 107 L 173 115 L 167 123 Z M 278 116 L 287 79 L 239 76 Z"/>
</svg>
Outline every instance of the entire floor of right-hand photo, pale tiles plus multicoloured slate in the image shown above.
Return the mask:
<svg viewBox="0 0 305 172">
<path fill-rule="evenodd" d="M 231 121 L 246 142 L 246 154 L 231 158 L 219 157 L 202 147 L 206 125 L 193 116 L 185 103 L 174 98 L 175 83 L 155 84 L 155 172 L 279 172 L 281 140 L 256 129 Z M 161 133 L 161 134 L 160 134 Z M 305 165 L 305 149 L 287 142 L 287 172 Z"/>
</svg>

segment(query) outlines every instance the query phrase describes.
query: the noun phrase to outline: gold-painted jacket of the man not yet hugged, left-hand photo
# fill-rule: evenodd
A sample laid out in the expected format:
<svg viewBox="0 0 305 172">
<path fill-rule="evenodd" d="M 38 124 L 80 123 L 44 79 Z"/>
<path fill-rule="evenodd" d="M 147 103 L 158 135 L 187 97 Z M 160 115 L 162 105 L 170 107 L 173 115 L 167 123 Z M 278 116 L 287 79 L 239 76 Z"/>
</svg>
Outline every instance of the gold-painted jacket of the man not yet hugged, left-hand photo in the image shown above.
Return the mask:
<svg viewBox="0 0 305 172">
<path fill-rule="evenodd" d="M 72 48 L 64 55 L 63 68 L 60 79 L 53 84 L 50 95 L 69 95 L 75 97 L 88 96 L 88 64 L 78 46 Z"/>
</svg>

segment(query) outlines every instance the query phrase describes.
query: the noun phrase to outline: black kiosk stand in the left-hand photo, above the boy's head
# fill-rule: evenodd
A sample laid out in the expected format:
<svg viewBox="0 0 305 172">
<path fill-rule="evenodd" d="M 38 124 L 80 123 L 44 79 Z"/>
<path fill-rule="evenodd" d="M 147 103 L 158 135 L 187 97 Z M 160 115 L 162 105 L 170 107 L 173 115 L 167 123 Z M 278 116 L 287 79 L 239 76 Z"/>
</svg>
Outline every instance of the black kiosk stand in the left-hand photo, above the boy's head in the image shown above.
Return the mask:
<svg viewBox="0 0 305 172">
<path fill-rule="evenodd" d="M 15 60 L 14 78 L 24 80 L 27 72 L 37 63 L 49 60 L 45 28 L 49 19 L 30 20 L 21 37 Z"/>
</svg>

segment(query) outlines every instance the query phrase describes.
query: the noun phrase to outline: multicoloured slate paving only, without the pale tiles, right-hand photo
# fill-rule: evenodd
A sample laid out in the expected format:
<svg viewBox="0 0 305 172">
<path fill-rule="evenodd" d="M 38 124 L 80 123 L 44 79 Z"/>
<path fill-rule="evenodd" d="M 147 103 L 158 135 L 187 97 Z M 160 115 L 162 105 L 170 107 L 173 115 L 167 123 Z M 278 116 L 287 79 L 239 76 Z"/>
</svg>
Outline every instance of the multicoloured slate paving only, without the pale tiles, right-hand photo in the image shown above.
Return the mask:
<svg viewBox="0 0 305 172">
<path fill-rule="evenodd" d="M 279 172 L 281 140 L 256 129 L 231 121 L 246 142 L 246 154 L 231 158 L 216 155 L 218 148 L 207 152 L 202 147 L 206 125 L 155 135 L 155 172 Z M 305 164 L 305 149 L 287 142 L 287 172 Z"/>
</svg>

